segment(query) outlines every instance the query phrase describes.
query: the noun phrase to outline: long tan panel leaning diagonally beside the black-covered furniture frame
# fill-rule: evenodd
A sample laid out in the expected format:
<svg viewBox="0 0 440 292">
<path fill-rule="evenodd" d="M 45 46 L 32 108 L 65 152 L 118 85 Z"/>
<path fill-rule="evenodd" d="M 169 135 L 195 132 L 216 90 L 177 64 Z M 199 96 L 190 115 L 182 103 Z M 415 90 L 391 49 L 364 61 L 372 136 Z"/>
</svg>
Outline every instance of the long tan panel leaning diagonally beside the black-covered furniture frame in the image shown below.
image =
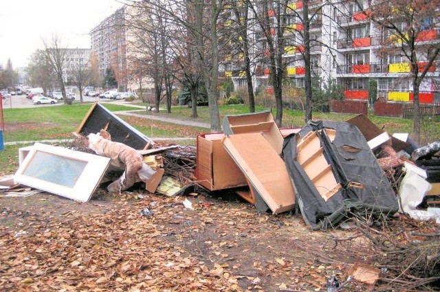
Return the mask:
<svg viewBox="0 0 440 292">
<path fill-rule="evenodd" d="M 261 133 L 225 137 L 223 144 L 274 214 L 294 207 L 294 188 L 285 163 Z"/>
</svg>

